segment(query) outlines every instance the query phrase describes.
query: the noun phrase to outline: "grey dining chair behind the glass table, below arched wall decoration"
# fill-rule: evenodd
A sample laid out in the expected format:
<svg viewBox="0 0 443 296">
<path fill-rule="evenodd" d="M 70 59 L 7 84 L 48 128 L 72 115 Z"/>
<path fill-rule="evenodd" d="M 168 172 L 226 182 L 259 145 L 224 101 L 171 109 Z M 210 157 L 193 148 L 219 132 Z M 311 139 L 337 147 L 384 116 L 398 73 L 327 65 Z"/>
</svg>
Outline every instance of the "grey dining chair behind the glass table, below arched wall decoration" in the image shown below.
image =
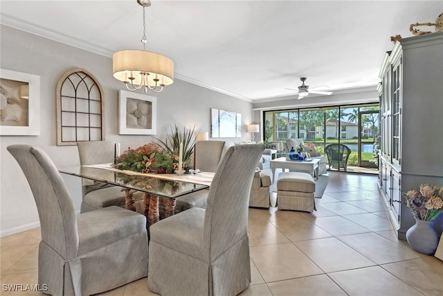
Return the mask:
<svg viewBox="0 0 443 296">
<path fill-rule="evenodd" d="M 116 143 L 112 141 L 84 141 L 77 142 L 80 165 L 109 164 L 114 162 Z M 133 193 L 136 209 L 143 212 L 143 193 Z M 92 182 L 82 179 L 82 204 L 80 213 L 93 211 L 104 207 L 126 207 L 125 192 L 122 187 L 102 182 Z"/>
</svg>

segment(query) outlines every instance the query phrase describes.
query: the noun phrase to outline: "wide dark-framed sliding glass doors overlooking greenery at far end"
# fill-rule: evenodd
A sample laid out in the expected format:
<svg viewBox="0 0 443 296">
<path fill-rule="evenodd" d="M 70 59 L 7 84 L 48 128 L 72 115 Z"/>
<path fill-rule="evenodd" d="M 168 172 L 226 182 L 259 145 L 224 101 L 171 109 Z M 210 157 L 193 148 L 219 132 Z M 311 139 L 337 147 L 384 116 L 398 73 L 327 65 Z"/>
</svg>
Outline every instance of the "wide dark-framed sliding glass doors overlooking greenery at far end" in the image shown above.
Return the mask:
<svg viewBox="0 0 443 296">
<path fill-rule="evenodd" d="M 264 120 L 266 142 L 303 139 L 323 155 L 342 143 L 352 150 L 348 166 L 378 166 L 379 104 L 265 111 Z"/>
</svg>

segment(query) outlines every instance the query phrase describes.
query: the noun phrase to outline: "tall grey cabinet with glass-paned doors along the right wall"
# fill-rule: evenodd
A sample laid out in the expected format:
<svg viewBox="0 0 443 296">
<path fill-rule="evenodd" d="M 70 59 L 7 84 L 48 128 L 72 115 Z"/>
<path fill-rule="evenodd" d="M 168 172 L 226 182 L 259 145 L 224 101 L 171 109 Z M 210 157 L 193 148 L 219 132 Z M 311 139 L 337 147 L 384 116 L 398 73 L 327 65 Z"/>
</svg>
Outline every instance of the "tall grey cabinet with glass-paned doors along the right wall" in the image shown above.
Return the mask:
<svg viewBox="0 0 443 296">
<path fill-rule="evenodd" d="M 379 77 L 379 187 L 406 239 L 415 221 L 401 193 L 443 186 L 443 32 L 397 41 Z"/>
</svg>

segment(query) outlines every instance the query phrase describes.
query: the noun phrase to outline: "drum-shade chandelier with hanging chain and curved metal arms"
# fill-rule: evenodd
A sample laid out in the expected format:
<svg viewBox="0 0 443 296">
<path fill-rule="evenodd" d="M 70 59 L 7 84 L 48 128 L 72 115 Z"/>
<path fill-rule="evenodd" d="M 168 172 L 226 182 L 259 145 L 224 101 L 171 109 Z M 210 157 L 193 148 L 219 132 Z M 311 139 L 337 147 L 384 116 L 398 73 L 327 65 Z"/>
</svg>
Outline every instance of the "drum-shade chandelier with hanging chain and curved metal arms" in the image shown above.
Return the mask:
<svg viewBox="0 0 443 296">
<path fill-rule="evenodd" d="M 146 21 L 145 8 L 151 6 L 150 0 L 137 0 L 143 6 L 143 51 L 125 50 L 117 51 L 112 56 L 112 71 L 114 77 L 123 81 L 126 88 L 134 92 L 137 89 L 145 88 L 152 92 L 161 92 L 165 85 L 174 82 L 174 62 L 170 58 L 159 53 L 145 51 Z"/>
</svg>

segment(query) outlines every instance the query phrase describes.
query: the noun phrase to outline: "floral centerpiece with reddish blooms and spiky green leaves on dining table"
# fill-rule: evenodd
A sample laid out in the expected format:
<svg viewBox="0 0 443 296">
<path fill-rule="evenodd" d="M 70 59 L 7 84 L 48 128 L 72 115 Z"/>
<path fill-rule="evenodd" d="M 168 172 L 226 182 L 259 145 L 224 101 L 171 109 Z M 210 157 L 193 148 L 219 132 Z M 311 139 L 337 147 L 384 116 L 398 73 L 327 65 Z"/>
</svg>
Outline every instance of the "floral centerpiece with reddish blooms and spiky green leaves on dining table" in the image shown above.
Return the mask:
<svg viewBox="0 0 443 296">
<path fill-rule="evenodd" d="M 140 173 L 174 173 L 179 168 L 179 149 L 182 151 L 182 168 L 192 168 L 191 159 L 195 141 L 192 140 L 194 129 L 183 129 L 183 133 L 175 126 L 171 134 L 167 134 L 165 141 L 147 143 L 136 149 L 128 148 L 117 157 L 116 168 L 120 170 L 136 171 Z"/>
</svg>

